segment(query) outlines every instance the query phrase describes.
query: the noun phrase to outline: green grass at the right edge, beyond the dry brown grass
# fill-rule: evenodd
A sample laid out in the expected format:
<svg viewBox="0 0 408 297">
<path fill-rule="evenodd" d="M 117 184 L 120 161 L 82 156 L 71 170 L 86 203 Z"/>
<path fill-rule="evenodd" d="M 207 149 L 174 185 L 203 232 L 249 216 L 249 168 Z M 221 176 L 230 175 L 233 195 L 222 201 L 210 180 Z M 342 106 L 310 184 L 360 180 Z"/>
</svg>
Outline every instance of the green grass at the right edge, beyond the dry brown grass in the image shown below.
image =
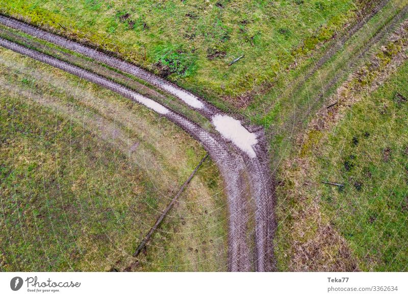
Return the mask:
<svg viewBox="0 0 408 297">
<path fill-rule="evenodd" d="M 408 269 L 407 70 L 357 104 L 318 159 L 322 180 L 345 185 L 322 187 L 322 205 L 363 270 Z"/>
</svg>

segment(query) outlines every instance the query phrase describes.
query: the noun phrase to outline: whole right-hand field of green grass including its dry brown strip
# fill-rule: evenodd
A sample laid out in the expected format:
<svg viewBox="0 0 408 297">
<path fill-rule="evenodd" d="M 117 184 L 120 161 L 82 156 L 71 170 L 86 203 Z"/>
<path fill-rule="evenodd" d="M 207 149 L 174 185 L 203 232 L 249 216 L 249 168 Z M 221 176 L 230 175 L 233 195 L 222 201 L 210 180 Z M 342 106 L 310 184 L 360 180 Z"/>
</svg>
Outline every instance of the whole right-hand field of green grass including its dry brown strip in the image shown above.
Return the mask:
<svg viewBox="0 0 408 297">
<path fill-rule="evenodd" d="M 340 115 L 310 126 L 281 172 L 283 270 L 408 269 L 408 62 L 370 92 L 390 61 L 386 48 L 376 57 L 342 89 Z"/>
</svg>

